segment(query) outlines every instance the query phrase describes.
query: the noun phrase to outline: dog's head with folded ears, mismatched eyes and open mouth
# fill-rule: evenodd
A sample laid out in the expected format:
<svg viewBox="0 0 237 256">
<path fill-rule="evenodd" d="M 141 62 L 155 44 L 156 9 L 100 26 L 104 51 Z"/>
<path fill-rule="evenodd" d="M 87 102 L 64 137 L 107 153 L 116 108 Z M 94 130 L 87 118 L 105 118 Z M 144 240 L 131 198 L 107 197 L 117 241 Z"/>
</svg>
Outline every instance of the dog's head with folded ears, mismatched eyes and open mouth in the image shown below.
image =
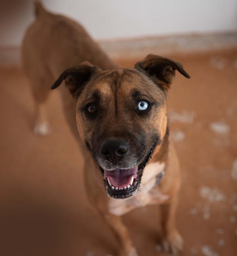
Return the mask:
<svg viewBox="0 0 237 256">
<path fill-rule="evenodd" d="M 133 69 L 102 71 L 90 63 L 64 71 L 77 99 L 76 123 L 113 198 L 135 194 L 145 165 L 166 133 L 166 93 L 180 63 L 149 55 Z"/>
</svg>

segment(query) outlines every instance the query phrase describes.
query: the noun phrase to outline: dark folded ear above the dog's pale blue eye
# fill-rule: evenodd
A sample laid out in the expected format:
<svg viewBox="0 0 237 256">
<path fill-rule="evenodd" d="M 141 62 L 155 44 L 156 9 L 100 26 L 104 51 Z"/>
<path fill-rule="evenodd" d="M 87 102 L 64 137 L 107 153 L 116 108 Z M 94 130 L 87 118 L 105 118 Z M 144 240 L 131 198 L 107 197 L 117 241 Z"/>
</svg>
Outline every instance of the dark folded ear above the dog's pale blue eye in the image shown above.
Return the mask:
<svg viewBox="0 0 237 256">
<path fill-rule="evenodd" d="M 149 54 L 145 59 L 135 64 L 135 69 L 143 70 L 156 84 L 161 85 L 164 89 L 169 89 L 175 70 L 178 70 L 186 78 L 190 75 L 183 69 L 181 63 L 161 56 Z"/>
</svg>

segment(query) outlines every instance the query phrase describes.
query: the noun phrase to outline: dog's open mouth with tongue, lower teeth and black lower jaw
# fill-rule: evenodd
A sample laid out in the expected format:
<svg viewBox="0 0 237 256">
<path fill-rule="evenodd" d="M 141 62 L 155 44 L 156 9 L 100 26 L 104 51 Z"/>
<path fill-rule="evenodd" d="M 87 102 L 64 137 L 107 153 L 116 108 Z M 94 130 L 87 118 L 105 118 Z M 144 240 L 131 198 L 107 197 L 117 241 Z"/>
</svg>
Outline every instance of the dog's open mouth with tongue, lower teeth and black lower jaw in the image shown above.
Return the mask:
<svg viewBox="0 0 237 256">
<path fill-rule="evenodd" d="M 104 186 L 108 196 L 115 199 L 125 199 L 136 194 L 140 186 L 143 170 L 149 163 L 156 144 L 157 140 L 154 141 L 143 161 L 133 168 L 106 170 L 99 167 L 104 178 Z"/>
</svg>

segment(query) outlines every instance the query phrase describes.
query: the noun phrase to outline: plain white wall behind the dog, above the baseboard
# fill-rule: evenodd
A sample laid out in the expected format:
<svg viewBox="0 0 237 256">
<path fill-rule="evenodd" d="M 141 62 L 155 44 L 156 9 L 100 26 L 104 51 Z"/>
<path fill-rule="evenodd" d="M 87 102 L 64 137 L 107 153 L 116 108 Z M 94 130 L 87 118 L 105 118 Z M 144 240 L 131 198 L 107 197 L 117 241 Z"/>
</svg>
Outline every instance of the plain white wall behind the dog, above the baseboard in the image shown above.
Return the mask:
<svg viewBox="0 0 237 256">
<path fill-rule="evenodd" d="M 0 46 L 19 45 L 32 0 L 1 0 Z M 96 39 L 237 31 L 237 0 L 42 0 L 81 22 Z"/>
</svg>

